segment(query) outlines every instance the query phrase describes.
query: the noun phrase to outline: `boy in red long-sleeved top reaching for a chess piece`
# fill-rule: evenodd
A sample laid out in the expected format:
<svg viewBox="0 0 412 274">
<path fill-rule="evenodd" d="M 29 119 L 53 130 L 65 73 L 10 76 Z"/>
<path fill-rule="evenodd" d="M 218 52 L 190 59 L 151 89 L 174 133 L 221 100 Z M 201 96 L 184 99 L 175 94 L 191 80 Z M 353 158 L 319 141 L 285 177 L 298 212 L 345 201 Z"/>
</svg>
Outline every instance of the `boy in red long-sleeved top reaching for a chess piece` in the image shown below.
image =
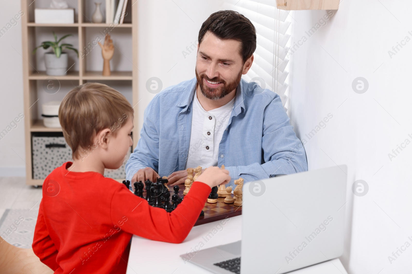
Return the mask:
<svg viewBox="0 0 412 274">
<path fill-rule="evenodd" d="M 183 242 L 211 187 L 230 181 L 227 170 L 209 167 L 167 213 L 103 177 L 105 168 L 122 165 L 133 144 L 133 109 L 122 94 L 99 83 L 75 87 L 60 105 L 59 120 L 73 163 L 44 180 L 33 239 L 34 253 L 54 273 L 125 273 L 133 234 Z"/>
</svg>

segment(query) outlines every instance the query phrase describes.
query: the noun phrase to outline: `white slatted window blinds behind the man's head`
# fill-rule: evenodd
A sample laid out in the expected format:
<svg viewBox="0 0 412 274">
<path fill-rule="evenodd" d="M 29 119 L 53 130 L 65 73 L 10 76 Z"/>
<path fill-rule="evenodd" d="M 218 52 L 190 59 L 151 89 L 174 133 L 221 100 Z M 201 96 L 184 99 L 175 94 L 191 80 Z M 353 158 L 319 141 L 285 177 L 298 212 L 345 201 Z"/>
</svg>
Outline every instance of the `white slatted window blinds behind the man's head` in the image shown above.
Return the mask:
<svg viewBox="0 0 412 274">
<path fill-rule="evenodd" d="M 291 23 L 288 12 L 277 9 L 274 0 L 225 0 L 223 7 L 243 14 L 256 28 L 253 64 L 243 79 L 258 82 L 262 88 L 276 92 L 285 107 Z"/>
</svg>

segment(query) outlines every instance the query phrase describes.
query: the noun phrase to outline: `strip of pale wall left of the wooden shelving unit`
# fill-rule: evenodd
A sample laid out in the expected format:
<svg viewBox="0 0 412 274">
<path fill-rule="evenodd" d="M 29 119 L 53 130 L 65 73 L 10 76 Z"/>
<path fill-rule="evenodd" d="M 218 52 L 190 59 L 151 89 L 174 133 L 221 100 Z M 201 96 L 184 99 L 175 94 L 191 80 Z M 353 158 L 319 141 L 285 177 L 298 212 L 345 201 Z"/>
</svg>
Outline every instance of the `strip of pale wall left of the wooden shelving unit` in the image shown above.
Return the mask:
<svg viewBox="0 0 412 274">
<path fill-rule="evenodd" d="M 7 26 L 20 9 L 20 1 L 2 1 L 0 28 Z M 16 25 L 10 24 L 10 29 L 0 37 L 0 131 L 10 126 L 19 113 L 24 113 L 21 19 Z M 24 176 L 26 164 L 23 159 L 24 121 L 20 121 L 0 140 L 0 176 Z"/>
</svg>

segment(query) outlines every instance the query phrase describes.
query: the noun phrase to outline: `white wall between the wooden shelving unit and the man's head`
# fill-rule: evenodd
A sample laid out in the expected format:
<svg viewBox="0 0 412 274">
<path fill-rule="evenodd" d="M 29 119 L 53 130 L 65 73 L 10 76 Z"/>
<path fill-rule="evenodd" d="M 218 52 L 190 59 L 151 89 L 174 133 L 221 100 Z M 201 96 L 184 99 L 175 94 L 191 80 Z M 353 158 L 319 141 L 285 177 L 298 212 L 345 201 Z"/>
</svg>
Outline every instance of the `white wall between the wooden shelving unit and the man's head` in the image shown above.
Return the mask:
<svg viewBox="0 0 412 274">
<path fill-rule="evenodd" d="M 155 96 L 146 82 L 158 77 L 163 88 L 194 78 L 197 36 L 202 23 L 221 8 L 219 0 L 139 0 L 139 131 L 143 111 Z M 194 45 L 194 46 L 193 46 Z M 192 46 L 194 52 L 186 47 Z M 184 56 L 182 51 L 190 53 Z"/>
</svg>

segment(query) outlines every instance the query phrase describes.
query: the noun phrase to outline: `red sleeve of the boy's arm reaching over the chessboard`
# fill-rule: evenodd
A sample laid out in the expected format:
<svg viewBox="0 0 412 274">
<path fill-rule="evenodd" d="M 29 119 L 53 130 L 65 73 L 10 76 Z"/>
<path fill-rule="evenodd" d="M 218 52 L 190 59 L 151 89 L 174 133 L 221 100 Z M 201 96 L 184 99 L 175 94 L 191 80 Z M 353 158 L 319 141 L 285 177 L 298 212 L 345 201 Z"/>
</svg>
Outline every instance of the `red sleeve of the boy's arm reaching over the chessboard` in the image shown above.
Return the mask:
<svg viewBox="0 0 412 274">
<path fill-rule="evenodd" d="M 171 213 L 150 206 L 146 200 L 119 186 L 112 198 L 112 222 L 126 232 L 147 239 L 180 243 L 199 218 L 211 187 L 193 182 L 189 193 Z"/>
</svg>

